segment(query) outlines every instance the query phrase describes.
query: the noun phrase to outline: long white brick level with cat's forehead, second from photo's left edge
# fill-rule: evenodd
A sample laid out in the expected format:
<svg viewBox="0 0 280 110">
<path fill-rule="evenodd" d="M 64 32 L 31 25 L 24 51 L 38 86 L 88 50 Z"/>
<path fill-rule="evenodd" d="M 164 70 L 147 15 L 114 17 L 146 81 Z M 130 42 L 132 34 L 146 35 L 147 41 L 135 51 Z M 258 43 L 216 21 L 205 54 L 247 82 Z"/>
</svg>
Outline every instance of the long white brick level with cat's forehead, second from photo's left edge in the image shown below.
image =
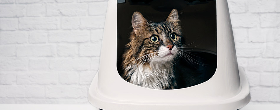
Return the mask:
<svg viewBox="0 0 280 110">
<path fill-rule="evenodd" d="M 60 27 L 58 18 L 19 18 L 19 29 L 22 30 L 50 30 Z"/>
</svg>

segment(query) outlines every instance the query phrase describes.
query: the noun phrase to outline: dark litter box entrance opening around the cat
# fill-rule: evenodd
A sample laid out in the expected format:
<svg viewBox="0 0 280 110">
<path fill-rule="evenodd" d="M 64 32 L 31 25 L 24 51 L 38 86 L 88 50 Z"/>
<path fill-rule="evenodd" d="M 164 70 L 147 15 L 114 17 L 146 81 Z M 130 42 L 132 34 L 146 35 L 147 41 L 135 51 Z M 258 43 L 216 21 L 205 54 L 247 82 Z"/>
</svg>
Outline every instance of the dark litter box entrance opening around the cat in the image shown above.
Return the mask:
<svg viewBox="0 0 280 110">
<path fill-rule="evenodd" d="M 124 2 L 125 1 L 125 2 Z M 117 69 L 122 76 L 123 54 L 126 44 L 130 42 L 133 32 L 131 18 L 134 12 L 140 12 L 147 21 L 162 22 L 167 19 L 172 9 L 177 9 L 183 31 L 185 47 L 180 60 L 175 62 L 179 68 L 180 77 L 195 77 L 198 82 L 177 80 L 178 88 L 194 86 L 209 80 L 217 68 L 217 21 L 215 0 L 118 0 L 117 4 Z M 186 68 L 185 68 L 186 67 Z M 178 68 L 177 68 L 178 70 Z M 182 72 L 182 71 L 185 71 Z M 195 76 L 184 76 L 188 73 Z M 184 84 L 185 83 L 185 84 Z"/>
</svg>

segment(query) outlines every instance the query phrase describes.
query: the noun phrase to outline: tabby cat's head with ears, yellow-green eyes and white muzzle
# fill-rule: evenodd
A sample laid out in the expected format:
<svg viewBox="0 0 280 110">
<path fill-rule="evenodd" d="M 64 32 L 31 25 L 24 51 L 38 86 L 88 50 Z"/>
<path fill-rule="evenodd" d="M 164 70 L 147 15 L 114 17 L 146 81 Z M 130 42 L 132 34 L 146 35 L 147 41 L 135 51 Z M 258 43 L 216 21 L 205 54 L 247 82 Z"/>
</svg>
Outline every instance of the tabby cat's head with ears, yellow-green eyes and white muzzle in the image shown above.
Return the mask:
<svg viewBox="0 0 280 110">
<path fill-rule="evenodd" d="M 184 43 L 177 9 L 164 22 L 149 22 L 141 13 L 132 16 L 131 49 L 136 62 L 168 62 L 174 60 Z"/>
</svg>

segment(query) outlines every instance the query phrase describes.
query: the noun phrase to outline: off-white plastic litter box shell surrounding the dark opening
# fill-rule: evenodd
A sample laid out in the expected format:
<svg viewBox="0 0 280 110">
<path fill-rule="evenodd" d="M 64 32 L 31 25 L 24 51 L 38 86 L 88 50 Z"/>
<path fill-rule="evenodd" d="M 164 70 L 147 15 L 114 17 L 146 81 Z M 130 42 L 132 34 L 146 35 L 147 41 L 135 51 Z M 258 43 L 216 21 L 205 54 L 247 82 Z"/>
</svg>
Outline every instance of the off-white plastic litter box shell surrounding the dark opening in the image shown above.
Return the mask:
<svg viewBox="0 0 280 110">
<path fill-rule="evenodd" d="M 128 1 L 126 1 L 128 2 Z M 117 1 L 109 0 L 99 71 L 88 91 L 93 106 L 104 110 L 236 110 L 250 101 L 249 84 L 238 68 L 226 0 L 217 4 L 217 69 L 208 81 L 188 88 L 157 90 L 131 84 L 118 73 Z"/>
</svg>

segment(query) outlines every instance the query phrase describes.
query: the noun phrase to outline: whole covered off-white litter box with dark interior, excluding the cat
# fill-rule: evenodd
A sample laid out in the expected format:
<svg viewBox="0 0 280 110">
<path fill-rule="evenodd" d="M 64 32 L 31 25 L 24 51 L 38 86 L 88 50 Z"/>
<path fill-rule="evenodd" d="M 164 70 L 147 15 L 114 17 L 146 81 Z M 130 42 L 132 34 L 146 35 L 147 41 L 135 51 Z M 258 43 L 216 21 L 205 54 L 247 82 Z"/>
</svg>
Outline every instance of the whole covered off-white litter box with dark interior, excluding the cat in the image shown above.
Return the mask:
<svg viewBox="0 0 280 110">
<path fill-rule="evenodd" d="M 192 51 L 214 56 L 213 74 L 198 85 L 172 90 L 144 88 L 125 81 L 119 75 L 119 60 L 129 42 L 132 14 L 138 11 L 146 19 L 159 21 L 174 8 Z M 104 110 L 236 110 L 250 99 L 246 75 L 237 65 L 226 0 L 108 1 L 99 71 L 88 92 L 93 106 Z"/>
</svg>

